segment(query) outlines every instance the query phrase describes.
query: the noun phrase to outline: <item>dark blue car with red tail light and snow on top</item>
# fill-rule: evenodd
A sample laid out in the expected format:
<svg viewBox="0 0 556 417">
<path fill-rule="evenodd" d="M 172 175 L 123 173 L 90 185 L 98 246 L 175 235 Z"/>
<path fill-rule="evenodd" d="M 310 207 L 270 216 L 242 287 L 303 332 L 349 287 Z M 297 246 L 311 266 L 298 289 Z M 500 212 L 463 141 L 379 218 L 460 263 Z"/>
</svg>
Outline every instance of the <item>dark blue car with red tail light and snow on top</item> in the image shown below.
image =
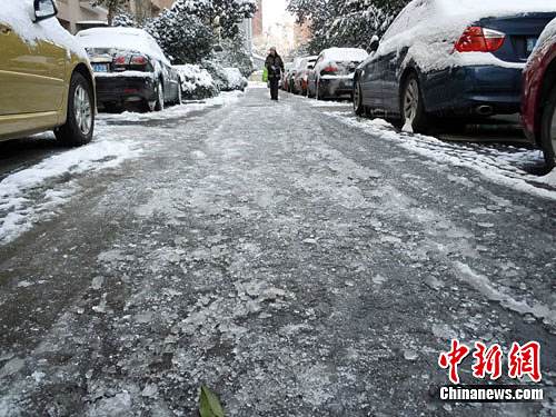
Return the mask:
<svg viewBox="0 0 556 417">
<path fill-rule="evenodd" d="M 522 71 L 556 3 L 414 0 L 357 70 L 354 108 L 425 131 L 429 117 L 517 113 Z"/>
</svg>

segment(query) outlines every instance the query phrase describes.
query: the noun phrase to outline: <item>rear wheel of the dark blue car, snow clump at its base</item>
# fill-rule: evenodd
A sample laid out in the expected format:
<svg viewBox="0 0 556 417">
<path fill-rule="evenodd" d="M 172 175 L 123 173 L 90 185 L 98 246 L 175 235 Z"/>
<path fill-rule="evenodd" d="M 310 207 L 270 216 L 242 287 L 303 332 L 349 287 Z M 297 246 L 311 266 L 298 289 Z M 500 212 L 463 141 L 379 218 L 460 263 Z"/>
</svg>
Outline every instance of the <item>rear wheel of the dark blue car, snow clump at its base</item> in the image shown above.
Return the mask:
<svg viewBox="0 0 556 417">
<path fill-rule="evenodd" d="M 404 129 L 415 133 L 423 133 L 427 130 L 427 113 L 423 102 L 423 93 L 419 80 L 415 73 L 407 77 L 401 92 L 401 122 Z"/>
</svg>

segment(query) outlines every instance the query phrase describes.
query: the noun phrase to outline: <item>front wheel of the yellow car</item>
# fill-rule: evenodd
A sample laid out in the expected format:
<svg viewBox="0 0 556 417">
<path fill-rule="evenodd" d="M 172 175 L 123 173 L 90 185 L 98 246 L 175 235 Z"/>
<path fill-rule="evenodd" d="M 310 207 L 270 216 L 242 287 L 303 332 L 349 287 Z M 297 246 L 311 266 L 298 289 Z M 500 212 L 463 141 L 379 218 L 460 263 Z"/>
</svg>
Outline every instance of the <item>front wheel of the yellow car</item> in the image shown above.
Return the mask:
<svg viewBox="0 0 556 417">
<path fill-rule="evenodd" d="M 89 143 L 95 131 L 95 100 L 92 86 L 76 72 L 71 76 L 66 125 L 54 130 L 56 138 L 67 146 Z"/>
</svg>

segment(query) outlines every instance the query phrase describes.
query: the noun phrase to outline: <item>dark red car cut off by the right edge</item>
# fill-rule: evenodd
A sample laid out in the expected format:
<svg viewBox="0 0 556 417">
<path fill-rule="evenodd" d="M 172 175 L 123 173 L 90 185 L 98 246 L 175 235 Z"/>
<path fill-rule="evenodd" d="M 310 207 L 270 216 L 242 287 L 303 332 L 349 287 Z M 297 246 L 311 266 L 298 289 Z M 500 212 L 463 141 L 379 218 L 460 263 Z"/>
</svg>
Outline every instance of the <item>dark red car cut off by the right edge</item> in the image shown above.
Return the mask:
<svg viewBox="0 0 556 417">
<path fill-rule="evenodd" d="M 556 19 L 540 36 L 524 72 L 523 121 L 527 137 L 556 166 Z"/>
</svg>

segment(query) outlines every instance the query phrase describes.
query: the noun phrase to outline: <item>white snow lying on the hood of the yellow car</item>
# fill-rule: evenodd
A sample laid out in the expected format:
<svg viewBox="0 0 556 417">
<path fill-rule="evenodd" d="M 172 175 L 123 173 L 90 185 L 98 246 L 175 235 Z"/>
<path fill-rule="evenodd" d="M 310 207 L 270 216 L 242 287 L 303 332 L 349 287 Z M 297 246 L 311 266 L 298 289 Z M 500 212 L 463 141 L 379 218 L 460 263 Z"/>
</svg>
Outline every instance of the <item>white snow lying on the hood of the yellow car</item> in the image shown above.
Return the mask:
<svg viewBox="0 0 556 417">
<path fill-rule="evenodd" d="M 76 38 L 61 27 L 58 19 L 51 18 L 34 22 L 33 0 L 3 1 L 0 8 L 0 22 L 9 26 L 23 41 L 52 42 L 69 49 L 76 56 L 88 59 L 87 52 Z"/>
</svg>

